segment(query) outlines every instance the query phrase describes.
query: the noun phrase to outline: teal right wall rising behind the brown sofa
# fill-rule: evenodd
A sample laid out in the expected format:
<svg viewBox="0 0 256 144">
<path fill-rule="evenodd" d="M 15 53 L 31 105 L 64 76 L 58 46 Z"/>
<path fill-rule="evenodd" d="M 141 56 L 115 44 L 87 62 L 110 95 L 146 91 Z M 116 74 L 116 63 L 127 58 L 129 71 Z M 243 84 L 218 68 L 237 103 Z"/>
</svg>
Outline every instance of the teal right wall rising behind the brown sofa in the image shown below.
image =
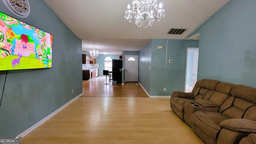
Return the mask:
<svg viewBox="0 0 256 144">
<path fill-rule="evenodd" d="M 256 87 L 256 0 L 230 0 L 202 24 L 198 79 Z"/>
</svg>

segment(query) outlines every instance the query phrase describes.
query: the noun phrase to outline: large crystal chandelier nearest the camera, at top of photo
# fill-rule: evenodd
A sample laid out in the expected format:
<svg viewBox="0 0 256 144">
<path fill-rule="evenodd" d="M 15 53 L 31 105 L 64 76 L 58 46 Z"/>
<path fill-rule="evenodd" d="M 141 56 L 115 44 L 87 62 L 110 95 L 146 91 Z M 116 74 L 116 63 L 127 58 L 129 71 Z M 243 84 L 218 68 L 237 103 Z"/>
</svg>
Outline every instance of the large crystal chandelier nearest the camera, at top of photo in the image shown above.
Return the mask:
<svg viewBox="0 0 256 144">
<path fill-rule="evenodd" d="M 135 20 L 135 24 L 138 27 L 141 27 L 141 25 L 144 28 L 152 26 L 155 19 L 160 21 L 160 19 L 165 16 L 164 9 L 162 9 L 162 4 L 159 4 L 160 9 L 158 9 L 156 2 L 157 0 L 134 0 L 132 1 L 132 10 L 130 10 L 130 4 L 128 4 L 128 10 L 125 11 L 124 18 L 130 20 L 130 22 Z M 157 11 L 157 16 L 154 15 L 154 9 Z M 144 25 L 145 22 L 148 22 L 146 26 Z"/>
</svg>

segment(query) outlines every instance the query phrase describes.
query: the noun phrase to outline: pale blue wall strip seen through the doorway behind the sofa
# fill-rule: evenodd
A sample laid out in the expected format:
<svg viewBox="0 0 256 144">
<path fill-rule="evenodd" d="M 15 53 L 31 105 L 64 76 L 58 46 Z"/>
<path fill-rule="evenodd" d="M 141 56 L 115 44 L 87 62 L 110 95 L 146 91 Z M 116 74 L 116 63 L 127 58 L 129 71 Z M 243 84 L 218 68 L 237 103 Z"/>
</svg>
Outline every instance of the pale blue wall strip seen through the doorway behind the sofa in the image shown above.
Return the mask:
<svg viewBox="0 0 256 144">
<path fill-rule="evenodd" d="M 193 85 L 193 65 L 194 65 L 194 52 L 196 52 L 198 50 L 188 50 L 188 61 L 187 61 L 187 80 L 186 80 L 186 84 L 188 86 L 192 86 Z"/>
</svg>

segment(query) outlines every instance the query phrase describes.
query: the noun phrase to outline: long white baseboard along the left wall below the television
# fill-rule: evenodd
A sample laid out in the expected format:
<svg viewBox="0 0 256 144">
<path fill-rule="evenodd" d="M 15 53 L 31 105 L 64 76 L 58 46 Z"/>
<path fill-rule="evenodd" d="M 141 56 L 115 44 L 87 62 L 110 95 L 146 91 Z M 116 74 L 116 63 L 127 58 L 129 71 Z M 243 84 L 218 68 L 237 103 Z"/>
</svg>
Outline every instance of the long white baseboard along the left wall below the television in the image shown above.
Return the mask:
<svg viewBox="0 0 256 144">
<path fill-rule="evenodd" d="M 63 106 L 61 106 L 60 108 L 58 108 L 57 110 L 55 110 L 54 112 L 52 112 L 51 114 L 49 114 L 48 116 L 46 116 L 45 118 L 43 118 L 42 120 L 40 120 L 39 122 L 37 122 L 36 124 L 34 124 L 33 126 L 31 126 L 30 128 L 28 128 L 27 130 L 25 130 L 24 132 L 22 132 L 21 134 L 19 134 L 17 137 L 24 137 L 27 134 L 29 134 L 30 132 L 32 132 L 34 129 L 36 129 L 38 126 L 40 126 L 41 124 L 43 124 L 44 122 L 46 122 L 47 120 L 49 120 L 52 116 L 54 116 L 55 114 L 57 114 L 58 112 L 60 112 L 63 108 L 65 108 L 66 106 L 68 106 L 68 104 L 70 104 L 71 102 L 73 102 L 74 100 L 76 100 L 77 98 L 79 98 L 80 96 L 82 96 L 83 93 L 79 94 L 78 96 L 76 96 L 75 98 L 73 98 L 72 100 L 70 100 L 69 102 L 67 102 L 66 104 L 64 104 Z"/>
</svg>

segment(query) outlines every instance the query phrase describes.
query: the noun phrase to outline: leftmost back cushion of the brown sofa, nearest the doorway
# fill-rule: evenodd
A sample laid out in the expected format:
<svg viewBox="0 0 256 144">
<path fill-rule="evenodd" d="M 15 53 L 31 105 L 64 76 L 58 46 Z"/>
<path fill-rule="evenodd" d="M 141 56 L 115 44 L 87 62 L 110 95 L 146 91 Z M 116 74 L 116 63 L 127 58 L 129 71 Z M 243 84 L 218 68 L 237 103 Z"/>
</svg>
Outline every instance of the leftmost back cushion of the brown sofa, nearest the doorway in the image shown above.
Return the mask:
<svg viewBox="0 0 256 144">
<path fill-rule="evenodd" d="M 209 100 L 215 91 L 216 86 L 220 83 L 218 80 L 202 79 L 198 82 L 198 87 L 194 91 L 195 100 Z"/>
</svg>

